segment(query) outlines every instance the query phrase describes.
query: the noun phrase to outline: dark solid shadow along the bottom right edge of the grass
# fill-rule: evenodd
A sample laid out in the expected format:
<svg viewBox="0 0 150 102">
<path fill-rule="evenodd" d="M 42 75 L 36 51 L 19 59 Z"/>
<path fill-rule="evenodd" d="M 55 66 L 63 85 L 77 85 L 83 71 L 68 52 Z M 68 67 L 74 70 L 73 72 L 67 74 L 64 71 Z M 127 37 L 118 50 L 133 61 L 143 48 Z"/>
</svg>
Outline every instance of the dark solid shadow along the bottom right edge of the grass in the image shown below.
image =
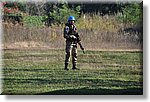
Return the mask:
<svg viewBox="0 0 150 102">
<path fill-rule="evenodd" d="M 56 90 L 37 95 L 143 95 L 142 88 L 129 88 L 129 89 L 67 89 Z"/>
</svg>

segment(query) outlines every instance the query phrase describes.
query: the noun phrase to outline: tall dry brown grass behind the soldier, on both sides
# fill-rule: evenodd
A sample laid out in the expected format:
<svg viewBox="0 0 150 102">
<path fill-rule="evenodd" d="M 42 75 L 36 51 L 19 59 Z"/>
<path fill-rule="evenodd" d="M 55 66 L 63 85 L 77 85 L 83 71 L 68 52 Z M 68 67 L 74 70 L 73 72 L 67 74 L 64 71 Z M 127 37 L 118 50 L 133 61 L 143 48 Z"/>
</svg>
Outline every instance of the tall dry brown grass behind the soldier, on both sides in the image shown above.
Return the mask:
<svg viewBox="0 0 150 102">
<path fill-rule="evenodd" d="M 86 49 L 137 49 L 142 42 L 136 36 L 119 32 L 123 28 L 116 16 L 82 15 L 76 26 Z M 34 47 L 47 46 L 49 48 L 64 48 L 64 25 L 51 27 L 26 27 L 20 25 L 3 24 L 4 47 L 16 46 L 16 42 L 26 42 L 27 47 L 38 43 Z M 20 43 L 21 44 L 21 43 Z M 19 46 L 21 47 L 21 45 Z"/>
</svg>

